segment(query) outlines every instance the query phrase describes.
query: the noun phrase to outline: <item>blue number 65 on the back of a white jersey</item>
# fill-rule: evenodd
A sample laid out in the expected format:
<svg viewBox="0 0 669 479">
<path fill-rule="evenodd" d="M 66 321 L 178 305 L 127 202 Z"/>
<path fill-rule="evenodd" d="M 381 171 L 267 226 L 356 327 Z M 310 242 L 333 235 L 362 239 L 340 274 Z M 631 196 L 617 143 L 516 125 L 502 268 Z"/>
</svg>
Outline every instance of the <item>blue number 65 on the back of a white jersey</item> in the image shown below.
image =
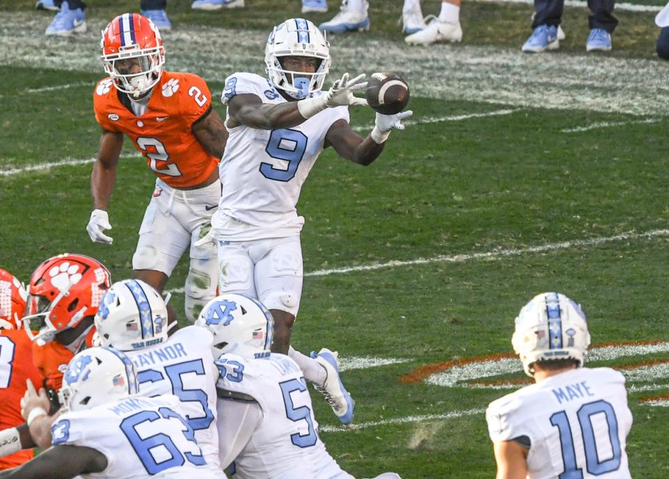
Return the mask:
<svg viewBox="0 0 669 479">
<path fill-rule="evenodd" d="M 183 402 L 197 401 L 202 405 L 202 411 L 204 415 L 196 418 L 191 418 L 190 415 L 186 416 L 190 427 L 193 427 L 195 431 L 200 429 L 207 429 L 213 421 L 213 413 L 209 409 L 209 399 L 201 389 L 183 389 L 183 381 L 181 380 L 181 374 L 195 373 L 197 375 L 204 375 L 204 364 L 202 360 L 192 360 L 186 362 L 180 362 L 179 364 L 172 364 L 171 366 L 165 367 L 165 373 L 172 383 L 172 393 L 181 399 Z M 155 383 L 156 381 L 161 381 L 165 378 L 163 373 L 156 371 L 155 369 L 146 369 L 146 371 L 140 371 L 137 374 L 137 379 L 140 382 L 140 385 L 143 383 Z M 157 396 L 157 395 L 156 395 Z"/>
</svg>

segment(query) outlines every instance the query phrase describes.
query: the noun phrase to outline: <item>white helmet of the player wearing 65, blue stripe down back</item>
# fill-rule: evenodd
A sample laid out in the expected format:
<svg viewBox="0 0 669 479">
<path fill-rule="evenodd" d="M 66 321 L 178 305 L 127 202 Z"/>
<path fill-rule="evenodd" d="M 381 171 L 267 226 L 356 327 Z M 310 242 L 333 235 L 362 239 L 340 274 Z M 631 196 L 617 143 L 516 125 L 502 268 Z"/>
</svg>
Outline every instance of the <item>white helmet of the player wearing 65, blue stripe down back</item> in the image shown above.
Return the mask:
<svg viewBox="0 0 669 479">
<path fill-rule="evenodd" d="M 95 317 L 100 346 L 133 351 L 167 340 L 167 307 L 144 281 L 124 279 L 105 293 Z"/>
</svg>

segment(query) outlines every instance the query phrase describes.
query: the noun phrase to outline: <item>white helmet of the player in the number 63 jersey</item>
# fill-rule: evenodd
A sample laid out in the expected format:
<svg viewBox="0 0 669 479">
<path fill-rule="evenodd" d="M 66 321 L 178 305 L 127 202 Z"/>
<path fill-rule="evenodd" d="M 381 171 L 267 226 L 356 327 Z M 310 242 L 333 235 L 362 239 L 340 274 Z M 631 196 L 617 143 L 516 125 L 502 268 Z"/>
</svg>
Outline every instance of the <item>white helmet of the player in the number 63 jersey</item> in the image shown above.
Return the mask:
<svg viewBox="0 0 669 479">
<path fill-rule="evenodd" d="M 135 364 L 114 348 L 88 348 L 75 355 L 63 375 L 61 404 L 81 411 L 137 394 Z"/>
</svg>

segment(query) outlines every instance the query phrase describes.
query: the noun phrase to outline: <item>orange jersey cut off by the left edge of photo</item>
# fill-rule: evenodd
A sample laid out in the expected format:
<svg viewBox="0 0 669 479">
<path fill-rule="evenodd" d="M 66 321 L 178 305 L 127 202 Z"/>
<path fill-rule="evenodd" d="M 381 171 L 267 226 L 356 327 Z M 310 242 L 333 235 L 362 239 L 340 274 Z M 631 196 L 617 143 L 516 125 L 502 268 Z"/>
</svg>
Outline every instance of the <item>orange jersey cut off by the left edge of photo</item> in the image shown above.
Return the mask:
<svg viewBox="0 0 669 479">
<path fill-rule="evenodd" d="M 24 330 L 0 330 L 0 430 L 22 425 L 21 398 L 26 392 L 26 380 L 36 388 L 42 376 L 33 365 L 32 343 Z M 0 457 L 0 470 L 28 462 L 33 450 L 22 450 Z"/>
</svg>

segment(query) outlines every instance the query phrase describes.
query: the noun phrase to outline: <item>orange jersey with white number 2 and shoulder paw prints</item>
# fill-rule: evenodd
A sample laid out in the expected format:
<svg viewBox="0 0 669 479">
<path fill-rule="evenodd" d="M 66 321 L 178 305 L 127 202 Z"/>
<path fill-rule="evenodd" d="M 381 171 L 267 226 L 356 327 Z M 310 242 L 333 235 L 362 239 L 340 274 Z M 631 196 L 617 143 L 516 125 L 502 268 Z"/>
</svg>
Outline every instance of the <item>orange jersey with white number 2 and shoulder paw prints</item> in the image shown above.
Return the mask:
<svg viewBox="0 0 669 479">
<path fill-rule="evenodd" d="M 149 168 L 173 188 L 202 184 L 218 167 L 193 134 L 193 124 L 211 112 L 209 87 L 197 75 L 163 71 L 140 116 L 128 95 L 105 78 L 96 85 L 93 110 L 100 126 L 133 140 Z"/>
</svg>

